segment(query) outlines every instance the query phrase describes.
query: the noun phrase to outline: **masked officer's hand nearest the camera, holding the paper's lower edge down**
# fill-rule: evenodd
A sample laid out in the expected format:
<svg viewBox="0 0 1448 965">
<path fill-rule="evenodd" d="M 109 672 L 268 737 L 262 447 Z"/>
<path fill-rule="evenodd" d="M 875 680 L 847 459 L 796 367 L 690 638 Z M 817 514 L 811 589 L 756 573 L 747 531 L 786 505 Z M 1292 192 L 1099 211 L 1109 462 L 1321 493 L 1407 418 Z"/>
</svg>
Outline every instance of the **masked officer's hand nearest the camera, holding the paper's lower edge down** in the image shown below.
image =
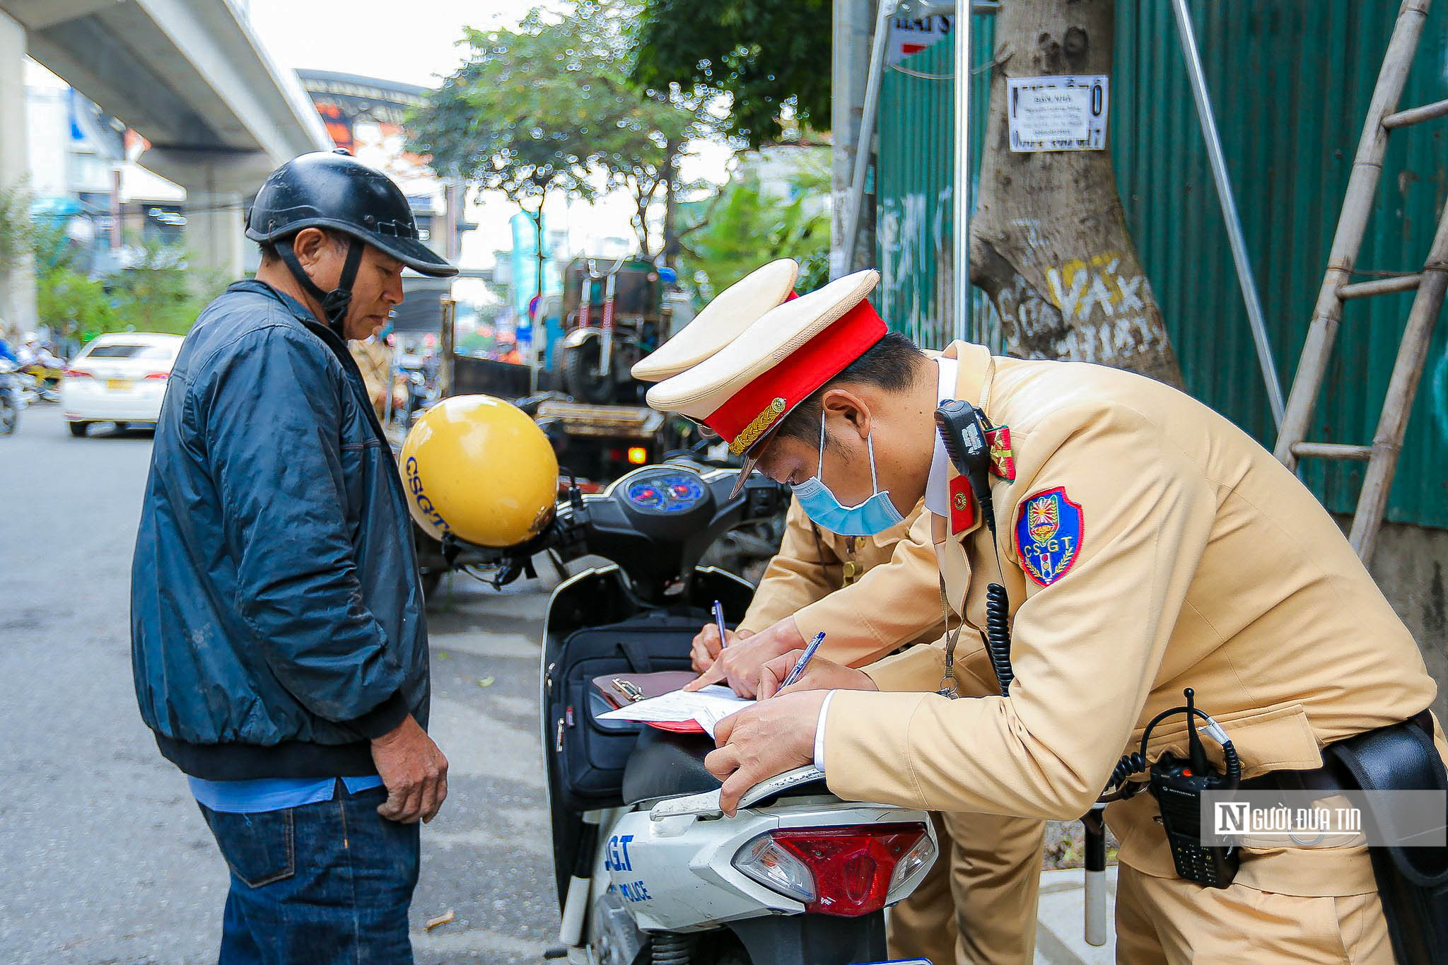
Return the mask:
<svg viewBox="0 0 1448 965">
<path fill-rule="evenodd" d="M 724 783 L 720 809 L 725 815 L 733 817 L 738 799 L 762 780 L 814 764 L 824 697 L 824 690 L 789 693 L 720 720 L 714 731 L 718 749 L 704 758 L 704 767 Z"/>
</svg>

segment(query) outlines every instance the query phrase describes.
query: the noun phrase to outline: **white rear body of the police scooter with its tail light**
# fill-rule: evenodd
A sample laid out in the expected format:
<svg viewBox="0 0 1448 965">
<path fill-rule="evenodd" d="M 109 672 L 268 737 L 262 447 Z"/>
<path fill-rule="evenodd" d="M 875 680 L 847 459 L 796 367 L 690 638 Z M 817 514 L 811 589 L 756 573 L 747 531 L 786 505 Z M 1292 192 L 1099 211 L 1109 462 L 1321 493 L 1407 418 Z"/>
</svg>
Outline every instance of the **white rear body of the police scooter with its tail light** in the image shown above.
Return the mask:
<svg viewBox="0 0 1448 965">
<path fill-rule="evenodd" d="M 678 741 L 640 736 L 626 777 L 634 777 L 624 794 L 631 803 L 582 816 L 597 843 L 588 878 L 572 877 L 563 903 L 568 961 L 886 958 L 882 910 L 914 891 L 935 859 L 928 816 L 841 802 L 812 767 L 757 784 L 734 817 L 720 810 L 718 790 L 631 800 L 676 790 L 679 764 L 691 760 L 699 752 Z M 696 768 L 698 784 L 715 783 Z"/>
</svg>

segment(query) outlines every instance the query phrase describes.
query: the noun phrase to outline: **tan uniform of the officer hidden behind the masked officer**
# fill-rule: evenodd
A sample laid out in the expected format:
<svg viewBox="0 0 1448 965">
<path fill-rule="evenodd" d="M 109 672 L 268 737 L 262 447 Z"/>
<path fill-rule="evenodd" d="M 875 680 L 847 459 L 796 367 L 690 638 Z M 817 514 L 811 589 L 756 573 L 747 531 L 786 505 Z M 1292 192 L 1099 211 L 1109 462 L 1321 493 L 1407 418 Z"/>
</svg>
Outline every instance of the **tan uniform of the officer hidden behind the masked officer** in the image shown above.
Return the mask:
<svg viewBox="0 0 1448 965">
<path fill-rule="evenodd" d="M 785 515 L 779 553 L 769 561 L 738 629 L 757 634 L 794 616 L 820 654 L 867 664 L 902 645 L 944 632 L 935 554 L 924 505 L 872 537 L 843 537 L 809 522 L 796 501 Z M 912 538 L 914 537 L 914 538 Z M 995 693 L 979 683 L 976 696 Z M 933 815 L 941 858 L 891 909 L 891 958 L 937 965 L 1031 962 L 1045 825 L 998 815 Z"/>
</svg>

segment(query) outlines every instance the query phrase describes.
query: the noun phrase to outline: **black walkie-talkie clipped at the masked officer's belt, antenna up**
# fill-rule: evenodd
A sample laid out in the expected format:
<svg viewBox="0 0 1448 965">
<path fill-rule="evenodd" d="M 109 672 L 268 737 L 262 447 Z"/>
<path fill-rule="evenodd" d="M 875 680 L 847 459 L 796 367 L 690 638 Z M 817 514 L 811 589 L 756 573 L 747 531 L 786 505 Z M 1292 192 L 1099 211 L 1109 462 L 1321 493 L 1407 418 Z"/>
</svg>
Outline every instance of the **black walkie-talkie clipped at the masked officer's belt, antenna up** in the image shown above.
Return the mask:
<svg viewBox="0 0 1448 965">
<path fill-rule="evenodd" d="M 1241 765 L 1237 752 L 1231 751 L 1225 731 L 1213 720 L 1208 731 L 1216 728 L 1212 736 L 1228 749 L 1228 768 L 1222 774 L 1206 760 L 1206 748 L 1196 732 L 1196 705 L 1192 689 L 1186 689 L 1187 712 L 1187 758 L 1182 760 L 1167 751 L 1151 765 L 1151 796 L 1161 809 L 1161 828 L 1171 845 L 1171 861 L 1177 874 L 1187 881 L 1205 884 L 1209 888 L 1225 888 L 1237 877 L 1241 854 L 1237 848 L 1202 843 L 1202 794 L 1237 787 Z M 1211 718 L 1208 718 L 1211 720 Z"/>
</svg>

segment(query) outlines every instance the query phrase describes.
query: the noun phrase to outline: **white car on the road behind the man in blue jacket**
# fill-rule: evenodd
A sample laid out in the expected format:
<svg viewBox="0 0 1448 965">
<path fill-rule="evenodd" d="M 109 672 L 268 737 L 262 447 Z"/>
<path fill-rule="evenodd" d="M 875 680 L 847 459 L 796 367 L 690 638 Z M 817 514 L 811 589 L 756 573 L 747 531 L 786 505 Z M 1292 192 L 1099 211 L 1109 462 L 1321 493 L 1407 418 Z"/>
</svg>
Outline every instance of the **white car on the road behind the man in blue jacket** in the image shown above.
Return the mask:
<svg viewBox="0 0 1448 965">
<path fill-rule="evenodd" d="M 181 336 L 126 331 L 98 336 L 71 360 L 61 379 L 61 408 L 71 435 L 91 422 L 155 425 Z"/>
</svg>

